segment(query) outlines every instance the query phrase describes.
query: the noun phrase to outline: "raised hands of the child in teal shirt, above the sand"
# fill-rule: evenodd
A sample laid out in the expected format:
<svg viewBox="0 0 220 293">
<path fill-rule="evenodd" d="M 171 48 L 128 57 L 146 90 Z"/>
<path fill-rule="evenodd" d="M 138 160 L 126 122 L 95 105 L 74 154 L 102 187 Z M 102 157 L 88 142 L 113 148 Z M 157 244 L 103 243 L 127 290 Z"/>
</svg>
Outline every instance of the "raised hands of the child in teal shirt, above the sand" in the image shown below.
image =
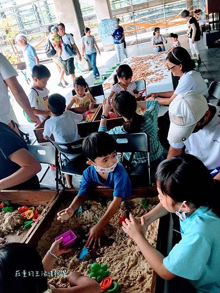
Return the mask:
<svg viewBox="0 0 220 293">
<path fill-rule="evenodd" d="M 125 219 L 122 223 L 122 230 L 129 235 L 134 241 L 140 235 L 144 235 L 146 232 L 144 219 L 141 217 L 141 223 L 139 224 L 137 220 L 134 219 L 132 214 L 129 215 L 130 219 Z"/>
</svg>

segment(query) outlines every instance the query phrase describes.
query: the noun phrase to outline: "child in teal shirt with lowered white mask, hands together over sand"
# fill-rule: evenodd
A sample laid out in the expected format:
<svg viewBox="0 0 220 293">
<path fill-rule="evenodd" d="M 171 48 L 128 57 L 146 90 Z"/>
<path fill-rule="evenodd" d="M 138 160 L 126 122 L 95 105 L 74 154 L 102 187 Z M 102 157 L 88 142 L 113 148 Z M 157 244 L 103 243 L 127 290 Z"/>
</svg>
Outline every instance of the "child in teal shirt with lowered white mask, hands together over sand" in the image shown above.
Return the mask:
<svg viewBox="0 0 220 293">
<path fill-rule="evenodd" d="M 220 197 L 208 169 L 193 155 L 160 163 L 155 175 L 160 203 L 140 218 L 132 215 L 122 229 L 165 280 L 188 279 L 198 293 L 220 292 Z M 164 257 L 145 238 L 149 224 L 168 214 L 180 218 L 182 239 Z"/>
</svg>

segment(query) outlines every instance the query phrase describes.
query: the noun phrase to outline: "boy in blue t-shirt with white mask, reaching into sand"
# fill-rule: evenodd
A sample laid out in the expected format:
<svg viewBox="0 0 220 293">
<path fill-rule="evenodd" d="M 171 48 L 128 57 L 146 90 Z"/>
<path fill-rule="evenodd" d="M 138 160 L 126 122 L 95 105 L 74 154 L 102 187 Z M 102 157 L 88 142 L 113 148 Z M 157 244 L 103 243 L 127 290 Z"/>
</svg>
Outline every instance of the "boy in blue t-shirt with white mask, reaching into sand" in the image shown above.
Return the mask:
<svg viewBox="0 0 220 293">
<path fill-rule="evenodd" d="M 113 200 L 110 206 L 100 221 L 87 234 L 87 247 L 92 244 L 93 248 L 97 244 L 100 246 L 102 230 L 120 207 L 122 199 L 130 196 L 132 193 L 129 176 L 122 164 L 118 163 L 115 149 L 116 143 L 114 139 L 106 132 L 94 132 L 85 138 L 83 141 L 83 152 L 88 158 L 87 164 L 90 167 L 83 172 L 78 195 L 74 198 L 71 205 L 57 214 L 57 219 L 63 223 L 82 205 L 92 188 L 97 187 L 97 185 L 114 188 Z"/>
</svg>

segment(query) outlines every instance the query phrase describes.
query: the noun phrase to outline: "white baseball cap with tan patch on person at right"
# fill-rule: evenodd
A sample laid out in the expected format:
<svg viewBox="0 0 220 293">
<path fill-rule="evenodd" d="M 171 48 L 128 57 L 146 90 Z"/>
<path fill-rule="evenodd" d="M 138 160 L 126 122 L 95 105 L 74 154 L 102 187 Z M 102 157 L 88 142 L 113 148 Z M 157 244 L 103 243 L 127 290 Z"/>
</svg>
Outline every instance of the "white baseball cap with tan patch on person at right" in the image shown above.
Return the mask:
<svg viewBox="0 0 220 293">
<path fill-rule="evenodd" d="M 178 144 L 188 139 L 208 109 L 205 97 L 198 92 L 190 90 L 177 95 L 169 106 L 168 141 Z"/>
</svg>

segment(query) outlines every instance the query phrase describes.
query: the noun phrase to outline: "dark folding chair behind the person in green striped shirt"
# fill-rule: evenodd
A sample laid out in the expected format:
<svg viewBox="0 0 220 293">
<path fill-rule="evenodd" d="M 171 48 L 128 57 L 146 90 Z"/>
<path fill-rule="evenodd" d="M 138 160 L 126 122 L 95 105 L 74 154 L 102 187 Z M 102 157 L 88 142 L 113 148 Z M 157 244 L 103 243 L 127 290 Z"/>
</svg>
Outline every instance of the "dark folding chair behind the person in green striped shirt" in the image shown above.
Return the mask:
<svg viewBox="0 0 220 293">
<path fill-rule="evenodd" d="M 147 152 L 148 155 L 148 175 L 149 175 L 149 185 L 152 185 L 151 177 L 151 158 L 150 158 L 150 138 L 146 133 L 132 133 L 132 134 L 111 134 L 116 142 L 117 152 L 131 152 L 129 165 L 126 166 L 128 169 L 133 160 L 135 152 Z M 129 172 L 129 171 L 128 171 Z"/>
</svg>

